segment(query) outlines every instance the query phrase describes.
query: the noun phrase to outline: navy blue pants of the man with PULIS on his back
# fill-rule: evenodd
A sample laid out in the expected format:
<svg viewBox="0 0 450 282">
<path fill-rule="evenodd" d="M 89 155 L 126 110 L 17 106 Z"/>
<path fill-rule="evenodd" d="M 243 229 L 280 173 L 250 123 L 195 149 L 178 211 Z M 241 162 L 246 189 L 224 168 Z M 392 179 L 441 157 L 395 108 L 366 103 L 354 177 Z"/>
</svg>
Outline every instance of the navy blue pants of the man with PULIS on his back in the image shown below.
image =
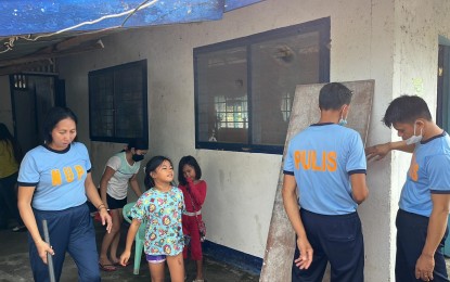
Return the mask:
<svg viewBox="0 0 450 282">
<path fill-rule="evenodd" d="M 363 282 L 364 242 L 358 214 L 324 216 L 300 209 L 300 216 L 314 252 L 308 269 L 293 262 L 292 281 L 322 281 L 330 261 L 332 282 Z M 298 256 L 296 247 L 294 259 Z"/>
</svg>

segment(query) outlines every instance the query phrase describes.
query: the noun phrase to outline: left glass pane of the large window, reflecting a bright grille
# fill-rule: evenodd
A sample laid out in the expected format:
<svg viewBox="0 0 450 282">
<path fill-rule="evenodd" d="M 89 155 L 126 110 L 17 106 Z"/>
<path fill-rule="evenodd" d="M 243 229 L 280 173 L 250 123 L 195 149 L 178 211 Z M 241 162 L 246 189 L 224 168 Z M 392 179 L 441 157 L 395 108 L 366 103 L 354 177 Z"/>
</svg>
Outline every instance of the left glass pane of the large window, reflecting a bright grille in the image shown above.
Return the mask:
<svg viewBox="0 0 450 282">
<path fill-rule="evenodd" d="M 246 48 L 237 47 L 200 54 L 197 94 L 200 141 L 247 143 Z"/>
</svg>

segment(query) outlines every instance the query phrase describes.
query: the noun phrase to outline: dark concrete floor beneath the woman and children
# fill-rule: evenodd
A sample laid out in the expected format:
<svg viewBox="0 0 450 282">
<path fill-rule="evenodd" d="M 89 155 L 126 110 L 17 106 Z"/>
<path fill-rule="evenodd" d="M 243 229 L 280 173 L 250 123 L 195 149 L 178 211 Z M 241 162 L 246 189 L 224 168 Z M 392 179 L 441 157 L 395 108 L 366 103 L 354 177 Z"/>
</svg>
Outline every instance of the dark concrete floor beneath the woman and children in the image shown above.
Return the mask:
<svg viewBox="0 0 450 282">
<path fill-rule="evenodd" d="M 99 223 L 95 225 L 97 241 L 100 244 L 104 231 Z M 123 232 L 123 238 L 125 238 Z M 124 243 L 124 242 L 121 242 Z M 99 246 L 98 246 L 99 249 Z M 131 256 L 133 257 L 133 255 Z M 192 260 L 187 261 L 187 281 L 190 282 L 195 278 L 195 265 Z M 167 267 L 166 267 L 167 270 Z M 132 273 L 132 265 L 126 268 L 118 268 L 114 272 L 101 271 L 102 281 L 151 281 L 150 271 L 145 259 L 141 260 L 140 274 Z M 256 282 L 259 277 L 244 272 L 234 267 L 214 261 L 205 257 L 204 275 L 207 282 Z M 28 260 L 27 232 L 13 233 L 9 230 L 0 231 L 0 282 L 28 282 L 33 281 L 33 274 Z M 70 256 L 66 256 L 61 281 L 72 282 L 77 280 L 77 268 Z M 166 271 L 166 281 L 170 281 L 168 270 Z"/>
</svg>

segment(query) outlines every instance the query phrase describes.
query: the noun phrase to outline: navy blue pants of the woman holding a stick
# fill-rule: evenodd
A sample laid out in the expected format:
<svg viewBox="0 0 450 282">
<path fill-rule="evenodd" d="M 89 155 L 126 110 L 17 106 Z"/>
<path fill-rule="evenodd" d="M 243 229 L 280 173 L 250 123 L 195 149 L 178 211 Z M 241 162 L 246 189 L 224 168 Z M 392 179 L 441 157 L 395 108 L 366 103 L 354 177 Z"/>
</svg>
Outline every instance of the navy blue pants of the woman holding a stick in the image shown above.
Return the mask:
<svg viewBox="0 0 450 282">
<path fill-rule="evenodd" d="M 66 252 L 78 267 L 78 281 L 101 281 L 95 232 L 87 204 L 64 210 L 34 209 L 39 232 L 43 239 L 42 219 L 47 219 L 50 244 L 54 249 L 53 267 L 56 281 L 60 281 Z M 28 234 L 29 260 L 37 282 L 50 281 L 48 265 L 37 253 L 35 242 Z"/>
</svg>

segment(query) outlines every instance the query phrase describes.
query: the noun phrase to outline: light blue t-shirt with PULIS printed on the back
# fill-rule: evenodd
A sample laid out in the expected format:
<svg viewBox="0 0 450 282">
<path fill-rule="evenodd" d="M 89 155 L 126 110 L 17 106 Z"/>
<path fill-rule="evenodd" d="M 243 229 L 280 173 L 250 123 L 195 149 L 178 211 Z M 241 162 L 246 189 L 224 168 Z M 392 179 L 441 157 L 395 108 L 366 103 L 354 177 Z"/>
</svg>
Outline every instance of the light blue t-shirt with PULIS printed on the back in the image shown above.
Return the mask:
<svg viewBox="0 0 450 282">
<path fill-rule="evenodd" d="M 336 124 L 311 125 L 288 145 L 284 174 L 294 175 L 299 205 L 320 215 L 353 213 L 351 174 L 365 174 L 360 134 Z"/>
</svg>

